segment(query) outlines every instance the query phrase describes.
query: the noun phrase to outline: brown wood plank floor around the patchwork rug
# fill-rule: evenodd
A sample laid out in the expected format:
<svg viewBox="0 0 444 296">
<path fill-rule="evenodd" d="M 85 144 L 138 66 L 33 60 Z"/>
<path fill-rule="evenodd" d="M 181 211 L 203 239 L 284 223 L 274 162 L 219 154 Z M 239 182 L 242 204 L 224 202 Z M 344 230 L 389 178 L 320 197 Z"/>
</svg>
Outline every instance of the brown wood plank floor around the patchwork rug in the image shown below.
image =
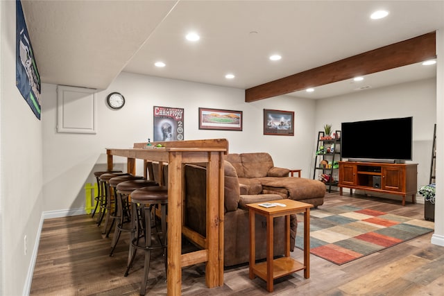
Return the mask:
<svg viewBox="0 0 444 296">
<path fill-rule="evenodd" d="M 424 205 L 363 196 L 327 193 L 321 208 L 350 204 L 391 214 L 424 218 Z M 389 247 L 344 265 L 310 256 L 310 278 L 303 272 L 275 280 L 273 293 L 262 279 L 248 278 L 248 265 L 225 269 L 224 285 L 205 287 L 205 265 L 182 269 L 182 295 L 444 295 L 444 247 L 432 245 L 432 234 Z M 142 252 L 128 277 L 128 235 L 114 256 L 110 238 L 90 216 L 44 221 L 35 264 L 31 295 L 138 295 Z M 302 251 L 291 253 L 302 261 Z M 160 254 L 153 254 L 147 295 L 166 295 L 167 284 Z"/>
</svg>

